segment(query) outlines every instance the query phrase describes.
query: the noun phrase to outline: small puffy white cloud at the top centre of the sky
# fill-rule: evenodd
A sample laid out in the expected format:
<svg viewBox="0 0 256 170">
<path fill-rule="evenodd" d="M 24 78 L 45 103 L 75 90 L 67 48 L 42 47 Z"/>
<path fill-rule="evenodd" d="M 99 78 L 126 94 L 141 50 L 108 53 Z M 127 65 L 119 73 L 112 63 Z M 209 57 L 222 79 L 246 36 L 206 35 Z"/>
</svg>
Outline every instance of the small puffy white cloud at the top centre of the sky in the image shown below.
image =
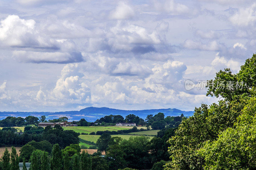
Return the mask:
<svg viewBox="0 0 256 170">
<path fill-rule="evenodd" d="M 110 12 L 111 19 L 127 19 L 135 15 L 131 6 L 124 2 L 119 2 L 116 9 Z"/>
</svg>

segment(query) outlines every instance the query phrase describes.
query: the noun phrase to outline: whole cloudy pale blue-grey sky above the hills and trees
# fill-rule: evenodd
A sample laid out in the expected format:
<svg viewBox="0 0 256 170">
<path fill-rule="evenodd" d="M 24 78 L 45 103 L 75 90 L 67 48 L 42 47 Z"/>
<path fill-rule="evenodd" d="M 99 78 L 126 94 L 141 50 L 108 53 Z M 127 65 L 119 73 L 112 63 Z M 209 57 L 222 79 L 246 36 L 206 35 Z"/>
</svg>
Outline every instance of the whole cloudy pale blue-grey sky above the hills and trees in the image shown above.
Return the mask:
<svg viewBox="0 0 256 170">
<path fill-rule="evenodd" d="M 194 110 L 255 52 L 252 0 L 1 0 L 0 111 Z"/>
</svg>

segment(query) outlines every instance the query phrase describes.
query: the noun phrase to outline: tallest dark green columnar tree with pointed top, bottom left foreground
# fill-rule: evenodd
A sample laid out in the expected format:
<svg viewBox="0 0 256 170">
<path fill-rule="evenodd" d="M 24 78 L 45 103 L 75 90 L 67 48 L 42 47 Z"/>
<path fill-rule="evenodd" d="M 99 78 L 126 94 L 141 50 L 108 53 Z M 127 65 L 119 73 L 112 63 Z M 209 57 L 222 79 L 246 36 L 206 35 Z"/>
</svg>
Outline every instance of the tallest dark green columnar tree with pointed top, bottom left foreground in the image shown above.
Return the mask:
<svg viewBox="0 0 256 170">
<path fill-rule="evenodd" d="M 60 170 L 62 168 L 62 159 L 59 144 L 52 147 L 51 170 Z"/>
</svg>

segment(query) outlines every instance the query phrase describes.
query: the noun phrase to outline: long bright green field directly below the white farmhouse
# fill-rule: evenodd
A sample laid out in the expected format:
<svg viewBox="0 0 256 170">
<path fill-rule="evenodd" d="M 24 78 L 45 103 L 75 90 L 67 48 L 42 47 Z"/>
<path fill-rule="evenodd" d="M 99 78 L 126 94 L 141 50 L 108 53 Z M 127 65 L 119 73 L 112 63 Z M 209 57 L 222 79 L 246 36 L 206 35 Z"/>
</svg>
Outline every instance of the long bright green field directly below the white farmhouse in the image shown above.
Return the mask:
<svg viewBox="0 0 256 170">
<path fill-rule="evenodd" d="M 91 133 L 97 131 L 117 131 L 117 130 L 124 130 L 124 129 L 131 129 L 133 126 L 76 126 L 76 127 L 63 127 L 64 130 L 74 130 L 77 133 Z M 137 127 L 138 129 L 146 128 L 146 127 Z"/>
</svg>

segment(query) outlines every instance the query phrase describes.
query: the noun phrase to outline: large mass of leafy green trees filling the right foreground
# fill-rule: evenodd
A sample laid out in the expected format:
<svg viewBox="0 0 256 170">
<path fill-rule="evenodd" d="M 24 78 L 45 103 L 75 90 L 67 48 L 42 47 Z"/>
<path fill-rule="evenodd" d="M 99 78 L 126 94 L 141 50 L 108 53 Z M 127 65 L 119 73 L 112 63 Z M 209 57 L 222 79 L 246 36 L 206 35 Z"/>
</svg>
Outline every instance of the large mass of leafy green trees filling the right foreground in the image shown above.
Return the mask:
<svg viewBox="0 0 256 170">
<path fill-rule="evenodd" d="M 206 95 L 221 100 L 210 106 L 202 104 L 182 121 L 169 140 L 172 161 L 166 169 L 256 168 L 255 71 L 254 54 L 237 74 L 220 70 L 208 81 Z"/>
</svg>

